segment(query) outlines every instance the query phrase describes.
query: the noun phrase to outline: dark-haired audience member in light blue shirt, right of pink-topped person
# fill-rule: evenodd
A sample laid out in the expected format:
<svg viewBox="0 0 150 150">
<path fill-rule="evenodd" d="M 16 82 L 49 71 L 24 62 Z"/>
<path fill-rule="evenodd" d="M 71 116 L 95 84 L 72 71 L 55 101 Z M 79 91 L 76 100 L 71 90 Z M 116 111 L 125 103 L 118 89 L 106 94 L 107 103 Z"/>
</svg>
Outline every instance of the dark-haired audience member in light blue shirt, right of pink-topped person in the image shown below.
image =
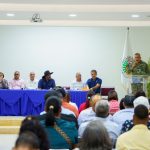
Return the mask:
<svg viewBox="0 0 150 150">
<path fill-rule="evenodd" d="M 120 128 L 122 127 L 122 124 L 128 120 L 128 119 L 132 119 L 133 117 L 133 113 L 134 113 L 134 108 L 133 108 L 133 101 L 134 101 L 135 97 L 134 96 L 129 96 L 126 95 L 123 101 L 124 107 L 125 109 L 122 109 L 118 112 L 116 112 L 112 119 L 114 122 L 116 122 Z"/>
</svg>

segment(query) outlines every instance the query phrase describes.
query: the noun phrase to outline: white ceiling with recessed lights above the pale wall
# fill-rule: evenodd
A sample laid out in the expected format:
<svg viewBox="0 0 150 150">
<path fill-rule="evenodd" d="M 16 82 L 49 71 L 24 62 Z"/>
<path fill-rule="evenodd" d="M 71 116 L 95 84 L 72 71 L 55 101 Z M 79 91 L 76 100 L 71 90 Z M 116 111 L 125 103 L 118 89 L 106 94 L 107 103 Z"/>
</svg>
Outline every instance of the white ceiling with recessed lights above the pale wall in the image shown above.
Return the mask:
<svg viewBox="0 0 150 150">
<path fill-rule="evenodd" d="M 31 22 L 34 13 L 43 22 Z M 150 0 L 0 0 L 0 25 L 150 26 Z"/>
</svg>

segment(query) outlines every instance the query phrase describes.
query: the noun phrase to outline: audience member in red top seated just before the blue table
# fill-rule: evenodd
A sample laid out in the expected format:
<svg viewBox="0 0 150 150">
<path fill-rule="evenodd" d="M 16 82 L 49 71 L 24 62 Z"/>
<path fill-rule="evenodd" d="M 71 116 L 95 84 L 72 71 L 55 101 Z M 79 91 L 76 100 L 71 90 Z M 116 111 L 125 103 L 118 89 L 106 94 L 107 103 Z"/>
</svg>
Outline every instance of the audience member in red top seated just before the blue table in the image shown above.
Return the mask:
<svg viewBox="0 0 150 150">
<path fill-rule="evenodd" d="M 91 97 L 95 95 L 95 92 L 94 91 L 88 91 L 87 93 L 87 96 L 86 96 L 86 101 L 84 103 L 82 103 L 79 107 L 79 113 L 82 111 L 82 110 L 85 110 L 90 106 L 90 100 L 91 100 Z"/>
</svg>

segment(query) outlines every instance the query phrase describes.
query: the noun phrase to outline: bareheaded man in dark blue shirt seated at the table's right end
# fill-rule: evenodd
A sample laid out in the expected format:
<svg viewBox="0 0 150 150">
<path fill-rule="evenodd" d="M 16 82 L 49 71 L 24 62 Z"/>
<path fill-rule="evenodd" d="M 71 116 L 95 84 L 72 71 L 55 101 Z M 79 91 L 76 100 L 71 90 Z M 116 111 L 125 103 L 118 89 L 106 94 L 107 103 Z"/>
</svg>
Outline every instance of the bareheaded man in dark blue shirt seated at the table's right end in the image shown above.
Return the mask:
<svg viewBox="0 0 150 150">
<path fill-rule="evenodd" d="M 97 71 L 91 70 L 91 79 L 88 79 L 86 84 L 88 85 L 90 90 L 93 90 L 95 93 L 100 93 L 100 88 L 102 84 L 102 80 L 97 77 Z"/>
</svg>

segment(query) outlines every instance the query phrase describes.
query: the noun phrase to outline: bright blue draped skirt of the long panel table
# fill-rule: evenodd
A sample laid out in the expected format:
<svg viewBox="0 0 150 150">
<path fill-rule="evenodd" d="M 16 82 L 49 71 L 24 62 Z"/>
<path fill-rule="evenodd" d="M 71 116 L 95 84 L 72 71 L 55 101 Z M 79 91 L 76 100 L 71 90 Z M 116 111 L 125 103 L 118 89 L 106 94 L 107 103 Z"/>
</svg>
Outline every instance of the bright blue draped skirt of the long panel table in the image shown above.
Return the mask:
<svg viewBox="0 0 150 150">
<path fill-rule="evenodd" d="M 47 90 L 0 90 L 0 116 L 38 115 L 44 110 Z M 71 101 L 79 107 L 86 91 L 69 91 Z"/>
</svg>

